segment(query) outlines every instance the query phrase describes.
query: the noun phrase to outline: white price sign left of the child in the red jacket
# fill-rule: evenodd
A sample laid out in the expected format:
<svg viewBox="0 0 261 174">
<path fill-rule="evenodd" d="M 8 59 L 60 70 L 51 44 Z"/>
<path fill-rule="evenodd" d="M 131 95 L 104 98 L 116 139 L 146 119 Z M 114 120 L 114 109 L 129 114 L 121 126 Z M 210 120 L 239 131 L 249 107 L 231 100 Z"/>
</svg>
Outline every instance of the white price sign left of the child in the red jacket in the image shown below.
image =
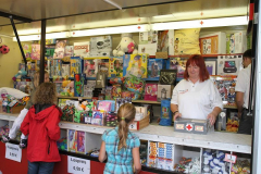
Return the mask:
<svg viewBox="0 0 261 174">
<path fill-rule="evenodd" d="M 5 159 L 21 162 L 22 149 L 18 145 L 5 144 Z"/>
</svg>

